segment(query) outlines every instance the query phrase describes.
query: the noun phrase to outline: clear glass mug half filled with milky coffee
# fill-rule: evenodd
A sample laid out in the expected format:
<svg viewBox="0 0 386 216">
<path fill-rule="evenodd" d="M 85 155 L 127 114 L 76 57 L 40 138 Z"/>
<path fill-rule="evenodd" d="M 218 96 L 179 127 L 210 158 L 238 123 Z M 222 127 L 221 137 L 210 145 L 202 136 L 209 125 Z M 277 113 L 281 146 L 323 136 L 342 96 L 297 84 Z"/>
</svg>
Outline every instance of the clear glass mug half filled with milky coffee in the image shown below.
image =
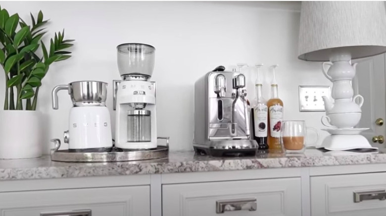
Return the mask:
<svg viewBox="0 0 386 216">
<path fill-rule="evenodd" d="M 319 133 L 315 128 L 306 127 L 305 121 L 283 121 L 281 143 L 284 150 L 287 153 L 304 152 L 307 142 L 307 130 L 314 131 L 317 137 L 314 143 L 307 145 L 316 144 L 319 140 Z"/>
</svg>

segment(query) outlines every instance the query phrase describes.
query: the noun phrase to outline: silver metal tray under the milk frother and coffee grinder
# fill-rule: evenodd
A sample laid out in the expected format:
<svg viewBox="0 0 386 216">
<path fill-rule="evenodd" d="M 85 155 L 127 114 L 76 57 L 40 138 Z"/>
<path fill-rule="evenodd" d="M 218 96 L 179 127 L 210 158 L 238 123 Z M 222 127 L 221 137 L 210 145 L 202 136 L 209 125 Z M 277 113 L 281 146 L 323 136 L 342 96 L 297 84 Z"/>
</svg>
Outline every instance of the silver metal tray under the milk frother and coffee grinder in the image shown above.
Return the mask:
<svg viewBox="0 0 386 216">
<path fill-rule="evenodd" d="M 160 138 L 158 138 L 160 139 Z M 73 152 L 66 150 L 58 150 L 60 148 L 60 140 L 52 139 L 51 142 L 55 147 L 51 149 L 50 157 L 52 161 L 60 162 L 123 162 L 136 160 L 150 160 L 167 158 L 169 152 L 169 138 L 162 138 L 166 140 L 166 146 L 158 145 L 153 149 L 136 149 L 119 151 L 113 147 L 108 152 Z"/>
</svg>

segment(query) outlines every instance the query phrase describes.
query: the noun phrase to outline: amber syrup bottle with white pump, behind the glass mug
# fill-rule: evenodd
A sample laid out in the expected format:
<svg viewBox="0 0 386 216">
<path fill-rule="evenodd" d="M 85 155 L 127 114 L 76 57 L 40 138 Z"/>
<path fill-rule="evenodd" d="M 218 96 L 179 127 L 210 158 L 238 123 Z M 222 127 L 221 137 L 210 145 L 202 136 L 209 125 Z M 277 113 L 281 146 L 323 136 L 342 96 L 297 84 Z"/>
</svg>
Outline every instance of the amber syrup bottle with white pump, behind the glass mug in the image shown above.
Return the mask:
<svg viewBox="0 0 386 216">
<path fill-rule="evenodd" d="M 278 95 L 278 83 L 276 82 L 275 69 L 278 65 L 271 66 L 273 79 L 271 83 L 271 99 L 267 102 L 268 107 L 268 147 L 271 150 L 282 150 L 280 144 L 281 128 L 283 121 L 283 101 Z"/>
</svg>

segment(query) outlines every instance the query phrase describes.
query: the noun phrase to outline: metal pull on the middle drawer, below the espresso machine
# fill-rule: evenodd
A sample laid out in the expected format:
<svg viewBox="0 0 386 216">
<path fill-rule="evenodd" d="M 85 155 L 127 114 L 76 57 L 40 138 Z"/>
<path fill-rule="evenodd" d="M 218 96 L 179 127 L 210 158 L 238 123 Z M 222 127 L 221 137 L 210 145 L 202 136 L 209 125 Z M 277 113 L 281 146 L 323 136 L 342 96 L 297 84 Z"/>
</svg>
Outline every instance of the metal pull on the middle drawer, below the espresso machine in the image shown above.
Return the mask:
<svg viewBox="0 0 386 216">
<path fill-rule="evenodd" d="M 237 199 L 237 200 L 218 200 L 216 201 L 216 213 L 222 214 L 228 211 L 256 211 L 256 198 Z"/>
</svg>

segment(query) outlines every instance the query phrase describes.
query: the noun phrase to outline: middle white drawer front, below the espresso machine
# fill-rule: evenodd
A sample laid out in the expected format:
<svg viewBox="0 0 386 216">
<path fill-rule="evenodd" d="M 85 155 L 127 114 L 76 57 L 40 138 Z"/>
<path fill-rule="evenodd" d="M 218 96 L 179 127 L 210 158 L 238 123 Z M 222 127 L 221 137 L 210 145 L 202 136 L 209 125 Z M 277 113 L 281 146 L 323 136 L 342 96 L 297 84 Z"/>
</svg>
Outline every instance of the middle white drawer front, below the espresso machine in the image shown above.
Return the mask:
<svg viewBox="0 0 386 216">
<path fill-rule="evenodd" d="M 242 210 L 226 211 L 239 204 Z M 163 185 L 162 211 L 164 216 L 301 216 L 300 179 Z"/>
</svg>

